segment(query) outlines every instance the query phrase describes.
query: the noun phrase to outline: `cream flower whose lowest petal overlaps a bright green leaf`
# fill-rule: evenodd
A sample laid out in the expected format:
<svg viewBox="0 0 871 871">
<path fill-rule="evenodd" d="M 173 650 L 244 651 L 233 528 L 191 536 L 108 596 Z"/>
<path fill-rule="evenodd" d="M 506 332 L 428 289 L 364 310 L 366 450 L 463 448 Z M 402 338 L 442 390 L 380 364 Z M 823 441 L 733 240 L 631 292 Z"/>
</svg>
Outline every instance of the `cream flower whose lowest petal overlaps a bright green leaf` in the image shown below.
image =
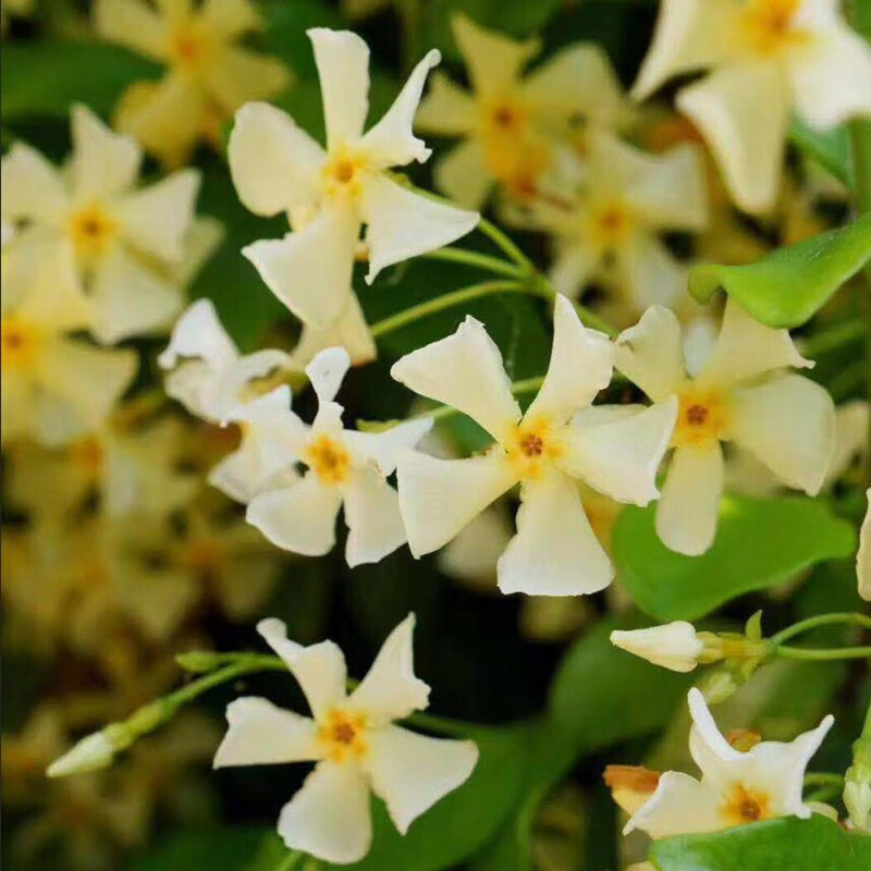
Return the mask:
<svg viewBox="0 0 871 871">
<path fill-rule="evenodd" d="M 721 442 L 734 442 L 782 483 L 814 495 L 832 456 L 835 409 L 822 387 L 787 371 L 813 366 L 789 333 L 759 323 L 732 298 L 707 361 L 697 368 L 685 353 L 677 319 L 661 306 L 616 342 L 616 366 L 630 381 L 654 402 L 679 401 L 657 531 L 672 550 L 698 555 L 716 535 Z"/>
</svg>

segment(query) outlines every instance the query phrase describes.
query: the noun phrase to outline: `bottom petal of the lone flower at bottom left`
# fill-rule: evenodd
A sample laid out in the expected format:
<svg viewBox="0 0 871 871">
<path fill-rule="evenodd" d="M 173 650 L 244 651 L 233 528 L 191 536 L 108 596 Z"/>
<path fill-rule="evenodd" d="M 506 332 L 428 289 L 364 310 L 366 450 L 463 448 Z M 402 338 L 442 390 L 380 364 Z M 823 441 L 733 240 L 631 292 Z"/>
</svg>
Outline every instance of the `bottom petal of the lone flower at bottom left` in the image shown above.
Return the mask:
<svg viewBox="0 0 871 871">
<path fill-rule="evenodd" d="M 372 843 L 369 787 L 363 772 L 356 765 L 319 762 L 282 809 L 279 834 L 289 849 L 327 862 L 361 859 Z"/>
</svg>

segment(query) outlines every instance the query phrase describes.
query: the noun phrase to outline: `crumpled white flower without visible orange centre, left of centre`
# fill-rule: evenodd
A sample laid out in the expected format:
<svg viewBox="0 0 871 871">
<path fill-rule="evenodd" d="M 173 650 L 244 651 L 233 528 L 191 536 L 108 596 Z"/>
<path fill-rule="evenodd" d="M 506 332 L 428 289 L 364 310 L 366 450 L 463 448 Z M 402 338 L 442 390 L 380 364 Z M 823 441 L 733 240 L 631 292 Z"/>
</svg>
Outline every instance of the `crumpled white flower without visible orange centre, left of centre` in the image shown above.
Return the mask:
<svg viewBox="0 0 871 871">
<path fill-rule="evenodd" d="M 210 299 L 197 299 L 179 318 L 158 363 L 169 370 L 167 393 L 192 414 L 214 424 L 223 422 L 255 395 L 249 392 L 253 381 L 275 371 L 298 370 L 283 351 L 240 354 Z"/>
</svg>

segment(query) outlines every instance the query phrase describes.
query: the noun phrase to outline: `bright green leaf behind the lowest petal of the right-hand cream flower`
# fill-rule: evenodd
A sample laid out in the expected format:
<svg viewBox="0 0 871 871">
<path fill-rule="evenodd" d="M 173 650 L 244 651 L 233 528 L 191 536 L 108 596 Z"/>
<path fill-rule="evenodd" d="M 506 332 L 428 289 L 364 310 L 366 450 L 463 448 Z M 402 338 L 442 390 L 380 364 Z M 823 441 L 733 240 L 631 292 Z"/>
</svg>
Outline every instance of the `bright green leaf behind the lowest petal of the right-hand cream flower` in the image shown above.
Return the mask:
<svg viewBox="0 0 871 871">
<path fill-rule="evenodd" d="M 670 551 L 654 516 L 654 505 L 624 511 L 613 547 L 621 580 L 638 606 L 661 621 L 702 617 L 822 560 L 847 556 L 855 543 L 850 524 L 802 496 L 724 500 L 716 540 L 701 556 Z"/>
</svg>

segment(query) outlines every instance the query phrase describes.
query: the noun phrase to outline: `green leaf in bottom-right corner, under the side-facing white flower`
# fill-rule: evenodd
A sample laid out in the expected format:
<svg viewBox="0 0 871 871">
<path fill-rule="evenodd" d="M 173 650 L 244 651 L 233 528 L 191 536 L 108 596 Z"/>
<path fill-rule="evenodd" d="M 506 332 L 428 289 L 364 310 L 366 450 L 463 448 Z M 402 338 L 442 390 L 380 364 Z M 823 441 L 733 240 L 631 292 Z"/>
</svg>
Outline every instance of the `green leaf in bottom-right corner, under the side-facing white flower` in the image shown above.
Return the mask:
<svg viewBox="0 0 871 871">
<path fill-rule="evenodd" d="M 867 871 L 871 837 L 824 817 L 792 818 L 665 838 L 650 857 L 659 871 Z"/>
</svg>

